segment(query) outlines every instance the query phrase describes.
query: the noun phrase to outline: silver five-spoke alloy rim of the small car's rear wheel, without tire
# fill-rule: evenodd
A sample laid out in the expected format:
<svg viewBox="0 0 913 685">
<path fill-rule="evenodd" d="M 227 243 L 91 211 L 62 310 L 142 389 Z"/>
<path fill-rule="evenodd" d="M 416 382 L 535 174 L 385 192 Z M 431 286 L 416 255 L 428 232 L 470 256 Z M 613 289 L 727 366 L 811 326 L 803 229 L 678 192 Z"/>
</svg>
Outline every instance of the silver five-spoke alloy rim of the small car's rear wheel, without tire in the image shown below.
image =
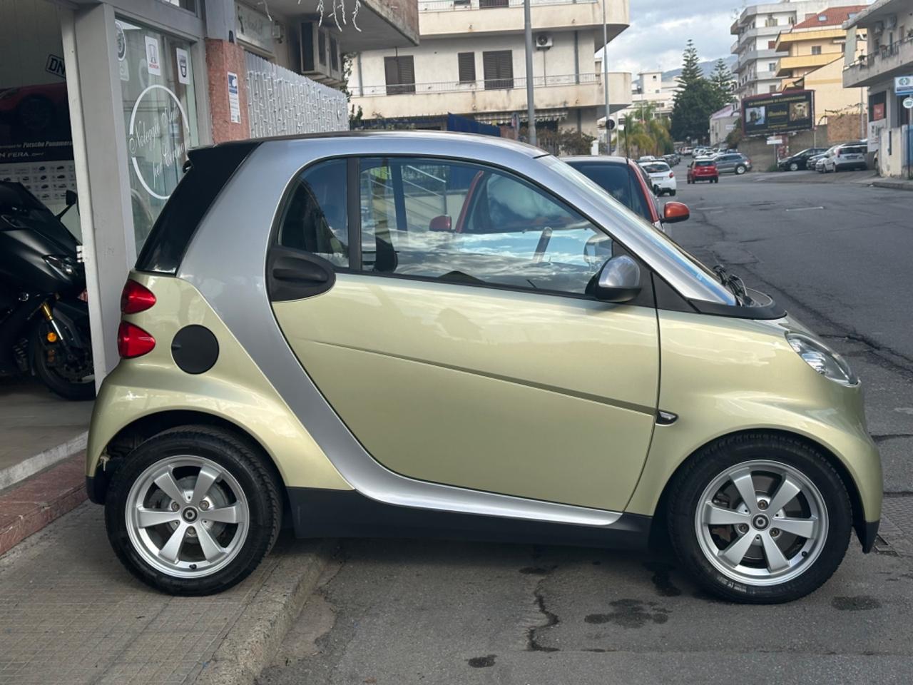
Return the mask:
<svg viewBox="0 0 913 685">
<path fill-rule="evenodd" d="M 127 495 L 133 548 L 176 578 L 215 574 L 240 552 L 250 522 L 247 497 L 215 461 L 180 455 L 145 469 Z"/>
</svg>

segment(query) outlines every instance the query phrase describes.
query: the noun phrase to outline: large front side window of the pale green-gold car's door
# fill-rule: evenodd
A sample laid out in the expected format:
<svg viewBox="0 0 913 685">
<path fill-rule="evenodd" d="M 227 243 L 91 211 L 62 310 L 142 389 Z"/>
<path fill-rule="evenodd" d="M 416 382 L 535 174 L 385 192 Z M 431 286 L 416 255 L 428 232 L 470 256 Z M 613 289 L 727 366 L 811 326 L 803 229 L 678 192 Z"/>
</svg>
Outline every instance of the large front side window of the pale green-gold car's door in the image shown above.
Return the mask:
<svg viewBox="0 0 913 685">
<path fill-rule="evenodd" d="M 363 159 L 362 268 L 582 295 L 612 240 L 519 177 L 470 163 Z"/>
</svg>

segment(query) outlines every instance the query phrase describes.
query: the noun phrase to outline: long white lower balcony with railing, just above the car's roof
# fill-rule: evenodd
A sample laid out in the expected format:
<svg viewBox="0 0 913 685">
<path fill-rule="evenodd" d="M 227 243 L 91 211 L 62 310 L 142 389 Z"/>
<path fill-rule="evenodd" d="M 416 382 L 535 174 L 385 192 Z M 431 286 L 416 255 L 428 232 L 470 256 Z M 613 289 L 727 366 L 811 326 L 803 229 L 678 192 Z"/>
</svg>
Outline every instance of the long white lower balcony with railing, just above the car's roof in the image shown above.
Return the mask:
<svg viewBox="0 0 913 685">
<path fill-rule="evenodd" d="M 602 106 L 602 80 L 601 73 L 534 77 L 536 109 Z M 631 104 L 631 74 L 609 73 L 609 100 L 612 111 Z M 361 93 L 355 90 L 352 104 L 362 108 L 365 119 L 526 111 L 526 79 L 365 86 Z"/>
</svg>

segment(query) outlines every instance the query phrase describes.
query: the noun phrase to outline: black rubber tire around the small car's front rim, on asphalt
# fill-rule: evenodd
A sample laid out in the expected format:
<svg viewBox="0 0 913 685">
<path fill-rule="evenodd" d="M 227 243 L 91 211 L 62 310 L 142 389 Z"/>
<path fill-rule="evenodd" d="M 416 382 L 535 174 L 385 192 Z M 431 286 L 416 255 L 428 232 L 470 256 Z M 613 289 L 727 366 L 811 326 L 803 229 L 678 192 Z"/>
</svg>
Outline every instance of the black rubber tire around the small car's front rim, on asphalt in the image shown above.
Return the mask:
<svg viewBox="0 0 913 685">
<path fill-rule="evenodd" d="M 805 571 L 779 585 L 746 585 L 722 574 L 701 550 L 696 511 L 708 484 L 726 469 L 768 459 L 797 469 L 821 493 L 828 531 L 818 557 Z M 678 560 L 708 592 L 744 604 L 790 602 L 816 590 L 843 561 L 853 526 L 849 496 L 834 467 L 802 440 L 767 433 L 724 437 L 702 448 L 676 476 L 668 500 L 668 530 Z"/>
</svg>

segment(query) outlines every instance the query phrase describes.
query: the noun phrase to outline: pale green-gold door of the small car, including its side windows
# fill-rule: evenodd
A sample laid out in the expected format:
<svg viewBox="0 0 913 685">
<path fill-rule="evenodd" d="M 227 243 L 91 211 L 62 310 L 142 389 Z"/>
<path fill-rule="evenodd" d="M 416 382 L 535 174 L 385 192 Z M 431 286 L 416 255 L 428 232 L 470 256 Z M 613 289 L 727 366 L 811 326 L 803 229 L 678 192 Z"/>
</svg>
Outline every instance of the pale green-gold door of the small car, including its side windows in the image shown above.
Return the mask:
<svg viewBox="0 0 913 685">
<path fill-rule="evenodd" d="M 273 249 L 327 259 L 331 287 L 273 306 L 372 458 L 412 479 L 624 509 L 659 349 L 649 302 L 587 294 L 622 248 L 517 175 L 435 159 L 358 160 L 343 222 L 346 179 L 325 164 L 301 174 Z"/>
</svg>

